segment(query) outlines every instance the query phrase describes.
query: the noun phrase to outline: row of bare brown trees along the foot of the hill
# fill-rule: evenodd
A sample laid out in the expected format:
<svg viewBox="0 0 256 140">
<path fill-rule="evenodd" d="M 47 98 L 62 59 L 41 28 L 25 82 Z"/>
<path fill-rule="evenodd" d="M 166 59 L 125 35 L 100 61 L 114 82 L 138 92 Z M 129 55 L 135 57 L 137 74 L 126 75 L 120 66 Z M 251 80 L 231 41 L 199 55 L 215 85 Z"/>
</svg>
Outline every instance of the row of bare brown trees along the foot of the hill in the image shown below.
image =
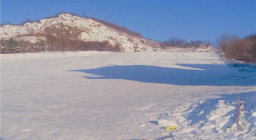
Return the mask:
<svg viewBox="0 0 256 140">
<path fill-rule="evenodd" d="M 24 40 L 15 40 L 13 38 L 1 39 L 1 53 L 36 53 L 36 52 L 55 52 L 55 51 L 122 51 L 119 42 L 111 45 L 109 41 L 83 41 L 79 39 L 67 39 L 53 35 L 45 35 L 46 40 L 30 42 Z"/>
</svg>

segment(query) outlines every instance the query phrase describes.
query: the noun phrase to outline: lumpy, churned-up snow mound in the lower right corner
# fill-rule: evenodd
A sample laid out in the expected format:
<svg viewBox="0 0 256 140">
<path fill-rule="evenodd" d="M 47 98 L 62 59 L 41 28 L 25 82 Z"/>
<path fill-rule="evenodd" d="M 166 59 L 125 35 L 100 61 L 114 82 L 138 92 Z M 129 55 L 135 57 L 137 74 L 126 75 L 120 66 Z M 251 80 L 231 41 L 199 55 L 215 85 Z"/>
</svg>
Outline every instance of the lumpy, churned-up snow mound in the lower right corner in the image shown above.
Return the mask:
<svg viewBox="0 0 256 140">
<path fill-rule="evenodd" d="M 238 115 L 238 96 L 241 95 L 240 126 L 244 132 L 236 129 Z M 188 104 L 182 109 L 175 109 L 174 118 L 179 118 L 178 112 L 186 118 L 180 122 L 177 133 L 187 133 L 189 137 L 194 135 L 198 139 L 216 140 L 237 139 L 249 140 L 256 134 L 256 92 L 244 92 L 239 94 L 218 95 L 219 97 Z M 177 115 L 175 115 L 177 114 Z M 180 117 L 181 118 L 181 117 Z M 163 122 L 163 124 L 166 124 Z M 231 130 L 227 132 L 227 126 Z M 204 133 L 204 135 L 200 135 Z M 199 134 L 199 135 L 198 135 Z"/>
</svg>

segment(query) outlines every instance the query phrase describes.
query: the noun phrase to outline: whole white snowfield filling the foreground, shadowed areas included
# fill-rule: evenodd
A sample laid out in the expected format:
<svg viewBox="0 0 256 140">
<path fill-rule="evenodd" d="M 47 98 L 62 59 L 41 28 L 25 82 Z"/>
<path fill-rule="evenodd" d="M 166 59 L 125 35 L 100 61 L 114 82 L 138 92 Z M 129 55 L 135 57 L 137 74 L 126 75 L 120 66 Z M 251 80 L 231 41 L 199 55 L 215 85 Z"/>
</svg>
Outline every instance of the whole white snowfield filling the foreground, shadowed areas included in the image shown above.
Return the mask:
<svg viewBox="0 0 256 140">
<path fill-rule="evenodd" d="M 256 138 L 256 72 L 214 52 L 0 57 L 1 140 Z M 244 132 L 236 129 L 239 95 Z M 172 124 L 179 129 L 165 130 Z"/>
</svg>

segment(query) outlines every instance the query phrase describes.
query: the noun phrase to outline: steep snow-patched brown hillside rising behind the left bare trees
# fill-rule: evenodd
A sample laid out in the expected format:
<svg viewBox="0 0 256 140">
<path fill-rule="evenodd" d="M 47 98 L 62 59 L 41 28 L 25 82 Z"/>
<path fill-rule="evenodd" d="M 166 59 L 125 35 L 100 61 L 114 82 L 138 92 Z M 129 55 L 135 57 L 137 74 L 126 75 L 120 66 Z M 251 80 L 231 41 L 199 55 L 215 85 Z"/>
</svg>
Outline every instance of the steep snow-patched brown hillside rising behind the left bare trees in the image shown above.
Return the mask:
<svg viewBox="0 0 256 140">
<path fill-rule="evenodd" d="M 60 14 L 51 19 L 42 19 L 39 22 L 28 22 L 22 26 L 1 26 L 1 38 L 17 37 L 24 34 L 54 34 L 63 36 L 69 34 L 72 39 L 84 41 L 109 41 L 111 45 L 120 43 L 124 51 L 152 51 L 159 43 L 141 37 L 121 34 L 118 31 L 89 18 L 80 18 L 70 14 Z M 34 39 L 32 41 L 37 41 Z"/>
</svg>

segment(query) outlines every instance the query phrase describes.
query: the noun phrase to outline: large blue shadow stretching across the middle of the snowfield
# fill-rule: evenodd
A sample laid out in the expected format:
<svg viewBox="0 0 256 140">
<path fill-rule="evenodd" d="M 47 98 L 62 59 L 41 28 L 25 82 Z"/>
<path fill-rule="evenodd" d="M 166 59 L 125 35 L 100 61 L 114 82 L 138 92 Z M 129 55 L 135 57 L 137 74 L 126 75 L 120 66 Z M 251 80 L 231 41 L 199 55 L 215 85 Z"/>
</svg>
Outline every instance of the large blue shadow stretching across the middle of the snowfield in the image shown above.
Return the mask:
<svg viewBox="0 0 256 140">
<path fill-rule="evenodd" d="M 146 83 L 173 84 L 183 86 L 253 86 L 255 74 L 239 73 L 236 68 L 217 64 L 179 64 L 177 67 L 149 65 L 110 65 L 87 70 L 69 70 L 96 76 L 87 79 L 125 79 Z"/>
</svg>

